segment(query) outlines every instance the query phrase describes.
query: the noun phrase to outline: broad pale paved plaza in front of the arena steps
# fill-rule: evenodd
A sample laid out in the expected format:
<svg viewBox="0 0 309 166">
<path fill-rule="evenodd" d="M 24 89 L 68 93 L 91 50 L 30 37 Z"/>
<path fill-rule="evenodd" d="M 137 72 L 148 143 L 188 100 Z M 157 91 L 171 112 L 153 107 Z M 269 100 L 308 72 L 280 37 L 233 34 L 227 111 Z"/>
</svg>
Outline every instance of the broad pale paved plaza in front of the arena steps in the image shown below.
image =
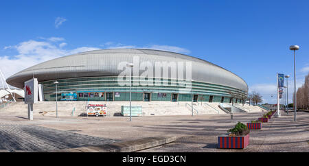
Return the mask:
<svg viewBox="0 0 309 166">
<path fill-rule="evenodd" d="M 238 121 L 247 123 L 265 112 L 230 115 L 179 115 L 155 117 L 47 117 L 34 121 L 0 112 L 1 152 L 49 152 L 74 147 L 135 141 L 147 137 L 177 137 L 174 143 L 139 152 L 309 152 L 309 113 L 272 118 L 262 130 L 251 130 L 244 150 L 217 148 L 217 137 Z"/>
</svg>

